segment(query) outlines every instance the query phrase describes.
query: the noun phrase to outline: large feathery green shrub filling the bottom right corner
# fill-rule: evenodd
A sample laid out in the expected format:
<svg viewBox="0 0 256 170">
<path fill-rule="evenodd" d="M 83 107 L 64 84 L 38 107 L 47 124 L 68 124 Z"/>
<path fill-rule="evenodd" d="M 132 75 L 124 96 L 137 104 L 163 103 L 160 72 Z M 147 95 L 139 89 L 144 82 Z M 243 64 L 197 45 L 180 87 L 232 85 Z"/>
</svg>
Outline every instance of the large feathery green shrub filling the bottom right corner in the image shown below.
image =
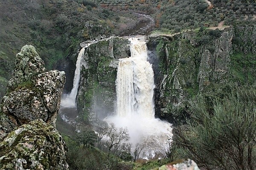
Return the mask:
<svg viewBox="0 0 256 170">
<path fill-rule="evenodd" d="M 190 101 L 191 119 L 174 131 L 174 159 L 191 158 L 207 170 L 253 170 L 256 165 L 256 88 L 233 88 L 209 104 Z"/>
</svg>

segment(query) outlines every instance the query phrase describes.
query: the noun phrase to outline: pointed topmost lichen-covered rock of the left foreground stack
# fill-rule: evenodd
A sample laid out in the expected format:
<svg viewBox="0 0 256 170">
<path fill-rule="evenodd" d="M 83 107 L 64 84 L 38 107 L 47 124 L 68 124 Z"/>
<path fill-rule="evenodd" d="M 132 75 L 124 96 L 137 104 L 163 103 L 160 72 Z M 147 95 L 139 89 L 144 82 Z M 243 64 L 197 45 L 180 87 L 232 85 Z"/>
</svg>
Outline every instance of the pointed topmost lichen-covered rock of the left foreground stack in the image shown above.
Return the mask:
<svg viewBox="0 0 256 170">
<path fill-rule="evenodd" d="M 7 85 L 7 91 L 20 83 L 30 81 L 38 74 L 44 73 L 44 61 L 32 45 L 24 45 L 16 55 L 15 70 Z"/>
</svg>

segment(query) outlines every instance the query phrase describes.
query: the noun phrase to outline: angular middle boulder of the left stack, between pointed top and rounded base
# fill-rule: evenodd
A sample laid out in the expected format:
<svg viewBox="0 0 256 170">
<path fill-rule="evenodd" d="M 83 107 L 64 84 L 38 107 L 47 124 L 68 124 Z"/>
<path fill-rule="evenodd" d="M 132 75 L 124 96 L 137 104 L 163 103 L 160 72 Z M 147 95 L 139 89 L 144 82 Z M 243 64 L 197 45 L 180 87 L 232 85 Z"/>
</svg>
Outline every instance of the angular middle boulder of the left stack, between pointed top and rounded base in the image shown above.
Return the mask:
<svg viewBox="0 0 256 170">
<path fill-rule="evenodd" d="M 38 74 L 30 83 L 3 97 L 2 111 L 12 117 L 14 127 L 35 119 L 43 119 L 54 125 L 64 83 L 64 71 Z"/>
</svg>

